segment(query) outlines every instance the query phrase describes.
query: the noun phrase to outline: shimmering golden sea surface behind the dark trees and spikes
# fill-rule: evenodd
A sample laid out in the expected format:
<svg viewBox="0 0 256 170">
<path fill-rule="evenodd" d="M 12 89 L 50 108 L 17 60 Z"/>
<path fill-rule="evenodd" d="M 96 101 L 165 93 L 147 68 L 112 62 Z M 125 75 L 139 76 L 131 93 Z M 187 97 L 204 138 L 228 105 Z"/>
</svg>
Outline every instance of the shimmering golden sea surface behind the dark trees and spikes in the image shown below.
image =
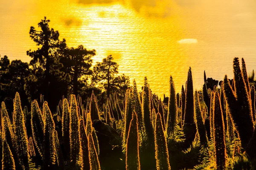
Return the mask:
<svg viewBox="0 0 256 170">
<path fill-rule="evenodd" d="M 207 77 L 231 79 L 234 57 L 256 68 L 256 3 L 253 0 L 3 0 L 0 54 L 29 62 L 36 49 L 30 26 L 47 16 L 69 47 L 96 49 L 94 62 L 112 54 L 119 74 L 143 79 L 154 93 L 176 91 L 192 68 L 194 89 Z"/>
</svg>

